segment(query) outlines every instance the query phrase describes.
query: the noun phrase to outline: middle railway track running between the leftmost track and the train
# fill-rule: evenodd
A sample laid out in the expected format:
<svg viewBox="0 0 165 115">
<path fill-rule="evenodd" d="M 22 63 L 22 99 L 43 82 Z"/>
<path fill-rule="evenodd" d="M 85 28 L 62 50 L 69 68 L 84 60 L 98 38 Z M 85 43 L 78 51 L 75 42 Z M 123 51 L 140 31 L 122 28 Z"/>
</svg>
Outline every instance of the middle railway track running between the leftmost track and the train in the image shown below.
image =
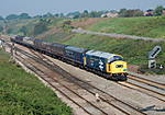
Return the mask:
<svg viewBox="0 0 165 115">
<path fill-rule="evenodd" d="M 35 54 L 36 55 L 36 54 Z M 87 90 L 88 92 L 90 92 L 92 95 L 95 95 L 96 93 L 99 93 L 100 94 L 100 99 L 110 104 L 111 106 L 118 108 L 119 111 L 121 111 L 122 113 L 127 114 L 127 115 L 132 115 L 132 114 L 136 114 L 136 115 L 145 115 L 145 113 L 142 113 L 140 110 L 138 110 L 136 107 L 125 103 L 125 102 L 122 102 L 120 100 L 118 100 L 117 97 L 99 90 L 98 88 L 95 88 L 94 85 L 87 83 L 87 82 L 84 82 L 75 77 L 73 77 L 72 74 L 69 74 L 68 72 L 66 72 L 65 70 L 63 70 L 62 68 L 59 68 L 58 66 L 56 66 L 53 61 L 48 61 L 48 59 L 44 58 L 43 57 L 40 57 L 38 58 L 34 58 L 33 59 L 42 65 L 44 65 L 45 67 L 50 68 L 51 70 L 53 71 L 56 71 L 58 73 L 61 73 L 65 79 L 72 81 L 73 83 L 79 85 L 80 88 Z M 42 59 L 42 61 L 40 61 Z M 48 62 L 45 62 L 45 60 L 47 60 Z M 52 64 L 54 66 L 52 66 Z"/>
</svg>

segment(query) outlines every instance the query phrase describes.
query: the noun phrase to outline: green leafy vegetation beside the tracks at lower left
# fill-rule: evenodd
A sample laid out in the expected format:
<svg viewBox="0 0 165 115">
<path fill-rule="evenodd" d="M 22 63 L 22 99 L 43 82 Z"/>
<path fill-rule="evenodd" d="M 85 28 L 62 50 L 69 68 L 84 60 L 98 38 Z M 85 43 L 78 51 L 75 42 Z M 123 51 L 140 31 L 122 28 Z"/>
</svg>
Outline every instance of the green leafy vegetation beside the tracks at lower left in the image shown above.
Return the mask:
<svg viewBox="0 0 165 115">
<path fill-rule="evenodd" d="M 73 115 L 50 88 L 8 60 L 0 49 L 0 115 Z"/>
</svg>

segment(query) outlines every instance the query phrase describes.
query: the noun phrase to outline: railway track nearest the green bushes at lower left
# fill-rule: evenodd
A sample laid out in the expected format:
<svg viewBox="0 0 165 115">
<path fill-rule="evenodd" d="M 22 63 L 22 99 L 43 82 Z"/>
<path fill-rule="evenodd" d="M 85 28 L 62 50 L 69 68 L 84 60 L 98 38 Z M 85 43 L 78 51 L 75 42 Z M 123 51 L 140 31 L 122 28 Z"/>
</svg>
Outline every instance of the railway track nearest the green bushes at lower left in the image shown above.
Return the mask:
<svg viewBox="0 0 165 115">
<path fill-rule="evenodd" d="M 26 61 L 22 58 L 19 59 L 21 62 Z M 70 84 L 66 83 L 61 83 L 62 81 L 58 81 L 57 79 L 55 79 L 54 77 L 57 77 L 59 74 L 56 74 L 55 72 L 51 72 L 51 73 L 45 73 L 43 70 L 41 70 L 38 67 L 40 65 L 35 65 L 35 62 L 32 61 L 28 61 L 29 65 L 31 66 L 26 66 L 29 69 L 31 69 L 33 72 L 35 72 L 37 76 L 40 76 L 44 81 L 46 81 L 51 87 L 53 87 L 56 91 L 61 92 L 63 95 L 65 95 L 68 100 L 70 100 L 73 103 L 75 103 L 76 105 L 78 105 L 80 108 L 82 108 L 87 115 L 108 115 L 108 113 L 103 112 L 101 108 L 99 108 L 97 105 L 92 104 L 91 102 L 89 102 L 88 100 L 86 100 L 85 97 L 80 96 L 79 94 L 77 94 L 76 92 L 74 92 L 72 90 Z M 24 65 L 26 65 L 24 62 Z M 54 77 L 53 77 L 54 76 Z M 70 96 L 72 95 L 72 96 Z M 77 100 L 74 100 L 73 96 Z M 81 103 L 78 103 L 81 102 Z M 86 103 L 86 104 L 85 104 Z"/>
</svg>

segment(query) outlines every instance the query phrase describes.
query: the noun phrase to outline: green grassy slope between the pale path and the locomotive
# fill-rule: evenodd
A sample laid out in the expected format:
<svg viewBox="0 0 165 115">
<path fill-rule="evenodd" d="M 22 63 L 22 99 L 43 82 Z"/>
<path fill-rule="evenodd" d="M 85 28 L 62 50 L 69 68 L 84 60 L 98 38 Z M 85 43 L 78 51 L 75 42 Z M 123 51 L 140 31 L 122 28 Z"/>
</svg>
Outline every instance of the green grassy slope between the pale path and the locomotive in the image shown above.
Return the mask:
<svg viewBox="0 0 165 115">
<path fill-rule="evenodd" d="M 129 65 L 138 65 L 147 68 L 147 55 L 156 45 L 165 49 L 165 43 L 153 43 L 133 39 L 117 39 L 107 36 L 76 34 L 72 39 L 64 42 L 67 45 L 85 47 L 89 49 L 102 50 L 112 54 L 122 55 Z M 158 54 L 157 65 L 165 66 L 165 51 Z M 155 71 L 165 73 L 165 70 Z"/>
</svg>

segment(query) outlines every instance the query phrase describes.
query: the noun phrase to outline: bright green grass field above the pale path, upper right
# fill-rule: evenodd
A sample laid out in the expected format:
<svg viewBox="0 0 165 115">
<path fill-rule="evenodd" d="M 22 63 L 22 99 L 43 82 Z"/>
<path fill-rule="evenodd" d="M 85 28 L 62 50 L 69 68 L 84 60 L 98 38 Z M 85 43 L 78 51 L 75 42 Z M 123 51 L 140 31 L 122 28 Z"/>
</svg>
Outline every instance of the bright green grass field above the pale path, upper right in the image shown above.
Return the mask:
<svg viewBox="0 0 165 115">
<path fill-rule="evenodd" d="M 116 18 L 100 21 L 90 31 L 165 38 L 165 16 Z"/>
</svg>

